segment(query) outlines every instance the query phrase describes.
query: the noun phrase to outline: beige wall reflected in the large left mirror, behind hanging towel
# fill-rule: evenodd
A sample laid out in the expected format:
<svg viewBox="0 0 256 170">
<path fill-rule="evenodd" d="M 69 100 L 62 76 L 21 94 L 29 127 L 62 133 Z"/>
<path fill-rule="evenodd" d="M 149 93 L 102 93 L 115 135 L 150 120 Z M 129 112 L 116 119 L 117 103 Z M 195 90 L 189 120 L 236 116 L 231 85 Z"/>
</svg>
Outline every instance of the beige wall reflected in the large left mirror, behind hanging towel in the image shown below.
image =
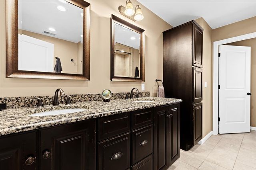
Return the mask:
<svg viewBox="0 0 256 170">
<path fill-rule="evenodd" d="M 54 44 L 54 58 L 52 60 L 55 66 L 55 57 L 60 58 L 62 73 L 82 74 L 82 72 L 78 72 L 78 64 L 81 64 L 81 62 L 78 63 L 78 53 L 82 53 L 82 49 L 78 49 L 78 43 L 73 43 L 71 41 L 66 41 L 63 39 L 58 39 L 47 35 L 33 33 L 26 30 L 20 30 L 19 33 Z M 71 59 L 74 59 L 75 63 L 70 61 Z"/>
</svg>

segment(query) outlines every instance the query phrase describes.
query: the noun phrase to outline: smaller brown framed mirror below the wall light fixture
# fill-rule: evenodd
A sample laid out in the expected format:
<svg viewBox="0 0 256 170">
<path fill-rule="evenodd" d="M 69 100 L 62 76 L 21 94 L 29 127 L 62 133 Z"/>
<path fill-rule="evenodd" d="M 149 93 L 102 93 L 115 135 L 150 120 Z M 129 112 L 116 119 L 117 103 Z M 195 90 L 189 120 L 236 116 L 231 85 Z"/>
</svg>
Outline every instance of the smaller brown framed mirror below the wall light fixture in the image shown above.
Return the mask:
<svg viewBox="0 0 256 170">
<path fill-rule="evenodd" d="M 145 81 L 145 30 L 111 16 L 112 81 Z"/>
</svg>

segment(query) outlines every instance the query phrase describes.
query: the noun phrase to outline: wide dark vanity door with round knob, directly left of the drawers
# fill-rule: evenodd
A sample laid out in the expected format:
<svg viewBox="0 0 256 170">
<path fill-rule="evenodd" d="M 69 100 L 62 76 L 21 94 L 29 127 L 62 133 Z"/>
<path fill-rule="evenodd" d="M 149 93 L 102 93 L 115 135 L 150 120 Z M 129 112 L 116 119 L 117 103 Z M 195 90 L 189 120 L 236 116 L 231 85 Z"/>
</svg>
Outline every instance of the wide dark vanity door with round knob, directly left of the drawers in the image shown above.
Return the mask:
<svg viewBox="0 0 256 170">
<path fill-rule="evenodd" d="M 39 130 L 40 169 L 95 169 L 95 132 L 95 119 Z"/>
</svg>

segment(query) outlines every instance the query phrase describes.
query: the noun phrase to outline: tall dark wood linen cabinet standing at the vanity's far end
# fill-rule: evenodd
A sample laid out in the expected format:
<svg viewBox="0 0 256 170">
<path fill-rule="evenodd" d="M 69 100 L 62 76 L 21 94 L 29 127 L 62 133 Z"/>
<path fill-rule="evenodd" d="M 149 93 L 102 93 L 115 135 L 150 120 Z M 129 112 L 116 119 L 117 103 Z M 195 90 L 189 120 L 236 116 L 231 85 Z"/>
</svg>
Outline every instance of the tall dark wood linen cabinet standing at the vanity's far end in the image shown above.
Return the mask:
<svg viewBox="0 0 256 170">
<path fill-rule="evenodd" d="M 190 21 L 163 32 L 166 98 L 180 98 L 180 148 L 202 139 L 203 29 Z"/>
</svg>

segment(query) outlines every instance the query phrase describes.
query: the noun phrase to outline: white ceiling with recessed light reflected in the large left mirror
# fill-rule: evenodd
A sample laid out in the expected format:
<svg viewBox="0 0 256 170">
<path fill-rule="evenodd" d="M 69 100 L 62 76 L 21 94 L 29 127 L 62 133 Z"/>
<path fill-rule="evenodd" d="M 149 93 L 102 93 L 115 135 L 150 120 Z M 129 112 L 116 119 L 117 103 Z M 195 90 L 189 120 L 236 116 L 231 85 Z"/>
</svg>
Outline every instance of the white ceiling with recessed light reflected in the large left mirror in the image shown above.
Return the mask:
<svg viewBox="0 0 256 170">
<path fill-rule="evenodd" d="M 66 1 L 65 1 L 66 2 Z M 66 11 L 60 11 L 62 6 Z M 83 9 L 68 2 L 59 0 L 19 0 L 18 27 L 26 31 L 43 33 L 44 31 L 56 35 L 48 35 L 74 43 L 81 41 L 83 30 Z M 56 31 L 50 31 L 54 28 Z"/>
</svg>

